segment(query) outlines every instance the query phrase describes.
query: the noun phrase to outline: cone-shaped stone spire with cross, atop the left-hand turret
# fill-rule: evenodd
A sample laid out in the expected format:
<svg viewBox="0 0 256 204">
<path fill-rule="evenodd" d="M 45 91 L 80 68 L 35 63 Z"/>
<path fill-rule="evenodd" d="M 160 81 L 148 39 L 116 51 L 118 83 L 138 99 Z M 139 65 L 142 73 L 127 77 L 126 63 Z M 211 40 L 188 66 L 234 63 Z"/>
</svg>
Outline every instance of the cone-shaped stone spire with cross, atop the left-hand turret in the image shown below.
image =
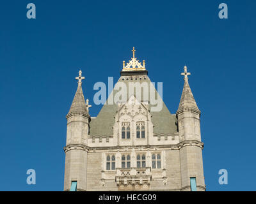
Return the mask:
<svg viewBox="0 0 256 204">
<path fill-rule="evenodd" d="M 76 77 L 78 80 L 78 87 L 76 94 L 74 96 L 74 99 L 72 101 L 72 105 L 70 107 L 70 110 L 67 114 L 67 118 L 70 117 L 71 115 L 85 115 L 89 116 L 88 110 L 86 108 L 86 103 L 84 101 L 84 94 L 83 94 L 83 89 L 82 89 L 82 80 L 84 77 L 82 77 L 82 71 L 79 71 L 79 77 Z"/>
</svg>

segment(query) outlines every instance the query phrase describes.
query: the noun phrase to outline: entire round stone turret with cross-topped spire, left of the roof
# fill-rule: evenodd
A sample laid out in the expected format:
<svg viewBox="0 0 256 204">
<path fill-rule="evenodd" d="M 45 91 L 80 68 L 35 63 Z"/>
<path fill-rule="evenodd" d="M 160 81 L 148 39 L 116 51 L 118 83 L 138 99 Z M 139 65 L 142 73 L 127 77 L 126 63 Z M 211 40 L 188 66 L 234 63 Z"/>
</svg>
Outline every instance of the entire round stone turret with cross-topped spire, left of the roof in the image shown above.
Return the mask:
<svg viewBox="0 0 256 204">
<path fill-rule="evenodd" d="M 67 114 L 67 145 L 65 150 L 64 191 L 86 191 L 88 126 L 90 115 L 82 90 L 82 71 L 78 87 Z"/>
</svg>

